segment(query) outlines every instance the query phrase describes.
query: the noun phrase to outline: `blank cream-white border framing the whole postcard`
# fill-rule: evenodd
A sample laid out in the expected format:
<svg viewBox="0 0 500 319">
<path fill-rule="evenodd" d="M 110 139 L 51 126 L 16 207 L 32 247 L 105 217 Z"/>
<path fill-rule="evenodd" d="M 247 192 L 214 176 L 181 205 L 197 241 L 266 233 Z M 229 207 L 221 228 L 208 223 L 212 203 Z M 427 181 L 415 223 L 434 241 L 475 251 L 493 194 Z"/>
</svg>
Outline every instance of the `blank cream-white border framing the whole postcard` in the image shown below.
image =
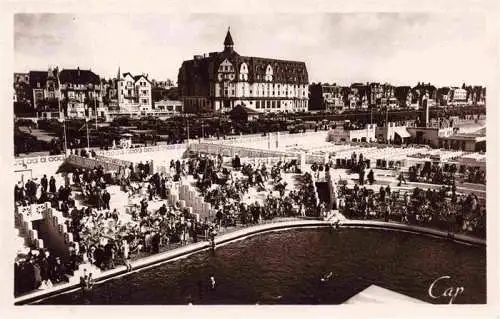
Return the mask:
<svg viewBox="0 0 500 319">
<path fill-rule="evenodd" d="M 428 318 L 428 317 L 453 317 L 453 318 L 493 318 L 498 316 L 499 294 L 498 294 L 498 212 L 495 210 L 498 196 L 488 196 L 488 305 L 486 306 L 407 306 L 404 309 L 385 306 L 296 306 L 296 307 L 14 307 L 12 305 L 12 282 L 13 267 L 12 258 L 8 252 L 9 244 L 14 238 L 13 232 L 13 202 L 12 189 L 14 185 L 13 174 L 13 141 L 12 141 L 12 65 L 13 65 L 13 13 L 14 12 L 86 12 L 86 13 L 260 13 L 260 12 L 287 12 L 297 14 L 307 14 L 313 12 L 479 12 L 488 19 L 488 33 L 492 39 L 491 56 L 484 63 L 491 66 L 491 73 L 485 74 L 485 83 L 487 85 L 487 137 L 488 137 L 488 194 L 498 194 L 495 192 L 498 186 L 496 178 L 498 169 L 496 164 L 497 137 L 498 130 L 496 120 L 498 119 L 499 107 L 499 32 L 498 22 L 498 1 L 495 0 L 394 0 L 394 1 L 239 1 L 236 0 L 216 0 L 216 1 L 4 1 L 0 7 L 0 30 L 3 33 L 0 37 L 2 51 L 0 54 L 0 91 L 2 101 L 0 107 L 0 116 L 2 125 L 0 125 L 2 136 L 2 147 L 0 156 L 0 165 L 3 168 L 5 176 L 0 183 L 1 202 L 4 204 L 0 213 L 2 231 L 0 247 L 4 252 L 2 258 L 1 276 L 4 277 L 0 290 L 3 298 L 1 301 L 3 318 L 77 318 L 93 316 L 100 317 L 120 317 L 120 318 L 156 318 L 168 316 L 182 317 L 207 317 L 215 318 L 236 316 L 255 317 L 255 316 L 286 316 L 301 317 L 320 316 L 320 317 L 348 317 L 348 318 L 386 318 L 386 317 L 407 317 L 407 318 Z"/>
</svg>

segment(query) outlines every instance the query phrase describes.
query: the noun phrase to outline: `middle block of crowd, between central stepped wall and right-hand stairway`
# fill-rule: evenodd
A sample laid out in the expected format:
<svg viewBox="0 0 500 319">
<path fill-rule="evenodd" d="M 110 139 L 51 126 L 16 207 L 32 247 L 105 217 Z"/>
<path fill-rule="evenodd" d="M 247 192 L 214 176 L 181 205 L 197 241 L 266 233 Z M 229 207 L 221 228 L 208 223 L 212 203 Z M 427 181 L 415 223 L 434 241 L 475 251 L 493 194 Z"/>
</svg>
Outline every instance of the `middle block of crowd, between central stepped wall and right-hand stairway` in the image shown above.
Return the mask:
<svg viewBox="0 0 500 319">
<path fill-rule="evenodd" d="M 215 221 L 218 225 L 246 225 L 276 217 L 319 215 L 310 173 L 299 175 L 301 182 L 298 189 L 287 190 L 283 173 L 300 174 L 297 160 L 279 160 L 269 169 L 265 163 L 242 164 L 236 155 L 231 168 L 234 172 L 241 172 L 241 175 L 232 174 L 229 168 L 222 165 L 216 167 L 209 162 L 208 171 L 214 172 L 209 175 L 212 177 L 208 177 L 208 183 L 198 182 L 205 201 L 211 203 L 216 211 Z M 224 178 L 217 177 L 218 174 Z M 207 184 L 213 187 L 207 188 Z M 264 200 L 244 200 L 251 188 L 263 192 Z"/>
</svg>

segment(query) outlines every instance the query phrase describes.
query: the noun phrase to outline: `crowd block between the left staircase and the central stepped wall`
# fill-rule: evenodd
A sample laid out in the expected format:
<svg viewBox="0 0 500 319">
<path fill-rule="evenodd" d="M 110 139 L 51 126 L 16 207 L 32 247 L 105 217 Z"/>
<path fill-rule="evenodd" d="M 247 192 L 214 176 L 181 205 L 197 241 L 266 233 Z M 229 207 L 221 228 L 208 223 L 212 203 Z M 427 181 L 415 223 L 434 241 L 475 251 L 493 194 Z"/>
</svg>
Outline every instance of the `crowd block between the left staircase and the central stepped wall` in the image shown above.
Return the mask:
<svg viewBox="0 0 500 319">
<path fill-rule="evenodd" d="M 130 197 L 140 198 L 138 205 L 130 207 L 128 221 L 120 218 L 123 212 L 109 207 L 105 184 L 95 183 L 96 187 L 103 187 L 103 205 L 98 201 L 95 207 L 73 208 L 71 212 L 68 229 L 78 242 L 75 250 L 82 262 L 111 269 L 117 264 L 128 264 L 133 254 L 158 253 L 162 246 L 196 242 L 199 237 L 208 236 L 207 220 L 199 221 L 178 203 L 172 205 L 166 200 L 173 182 L 170 174 L 151 174 L 149 165 L 140 163 L 127 168 L 118 182 Z M 160 207 L 149 207 L 156 200 L 161 201 Z"/>
</svg>

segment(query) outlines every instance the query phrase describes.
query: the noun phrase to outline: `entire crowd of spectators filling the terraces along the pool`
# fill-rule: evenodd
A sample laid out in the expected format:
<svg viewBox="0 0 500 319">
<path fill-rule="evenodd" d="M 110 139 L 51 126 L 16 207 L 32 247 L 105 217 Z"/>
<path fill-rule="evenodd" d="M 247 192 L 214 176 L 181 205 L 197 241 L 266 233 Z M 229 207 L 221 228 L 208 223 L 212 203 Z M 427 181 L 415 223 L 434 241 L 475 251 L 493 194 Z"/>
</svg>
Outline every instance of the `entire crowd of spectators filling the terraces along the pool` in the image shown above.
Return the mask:
<svg viewBox="0 0 500 319">
<path fill-rule="evenodd" d="M 337 165 L 335 165 L 337 164 Z M 485 236 L 485 207 L 476 195 L 456 193 L 456 167 L 425 164 L 410 168 L 410 181 L 424 178 L 450 184 L 439 191 L 414 189 L 401 194 L 390 186 L 378 192 L 365 187 L 366 159 L 353 153 L 340 166 L 359 174 L 354 188 L 338 185 L 334 209 L 350 218 L 383 218 L 399 222 L 466 231 Z M 102 270 L 120 264 L 130 267 L 134 255 L 158 253 L 162 247 L 187 244 L 213 238 L 220 227 L 251 225 L 276 217 L 325 216 L 325 204 L 315 190 L 320 173 L 329 176 L 330 168 L 339 168 L 339 161 L 313 163 L 311 172 L 302 172 L 295 159 L 274 164 L 242 163 L 236 155 L 230 165 L 224 158 L 194 154 L 186 160 L 172 160 L 167 171 L 153 173 L 149 163 L 126 167 L 119 174 L 106 173 L 102 167 L 72 169 L 57 188 L 53 176 L 30 179 L 15 185 L 15 201 L 19 206 L 50 202 L 67 218 L 66 225 L 74 243 L 69 257 L 52 256 L 49 251 L 31 250 L 16 260 L 16 291 L 50 287 L 66 280 L 80 263 L 91 263 Z M 287 188 L 284 173 L 300 177 L 298 187 Z M 483 174 L 483 175 L 481 175 Z M 484 178 L 484 172 L 464 172 L 471 178 Z M 167 201 L 173 184 L 193 176 L 205 202 L 212 205 L 214 219 L 200 220 L 179 203 Z M 447 178 L 451 179 L 448 183 Z M 373 170 L 366 176 L 374 183 Z M 401 180 L 400 180 L 401 182 Z M 405 181 L 406 182 L 406 181 Z M 358 185 L 359 184 L 359 185 Z M 111 207 L 110 185 L 119 185 L 130 198 L 140 198 L 138 205 L 129 205 L 129 218 Z M 76 205 L 75 190 L 81 191 L 85 206 Z M 252 192 L 251 192 L 252 191 Z M 253 191 L 261 200 L 252 198 Z M 159 205 L 157 205 L 159 202 Z"/>
</svg>

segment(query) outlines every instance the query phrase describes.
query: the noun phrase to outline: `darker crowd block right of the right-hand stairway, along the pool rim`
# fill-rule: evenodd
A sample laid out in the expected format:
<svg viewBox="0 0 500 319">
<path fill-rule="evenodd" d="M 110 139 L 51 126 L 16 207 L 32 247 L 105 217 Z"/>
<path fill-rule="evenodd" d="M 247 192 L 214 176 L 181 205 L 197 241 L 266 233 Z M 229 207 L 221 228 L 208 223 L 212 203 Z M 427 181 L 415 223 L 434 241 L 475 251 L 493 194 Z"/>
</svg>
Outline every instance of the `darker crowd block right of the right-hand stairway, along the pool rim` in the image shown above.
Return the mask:
<svg viewBox="0 0 500 319">
<path fill-rule="evenodd" d="M 411 193 L 378 192 L 359 187 L 339 187 L 339 210 L 348 218 L 384 219 L 468 232 L 485 236 L 486 209 L 475 194 L 457 194 L 454 187 L 439 190 L 414 188 Z"/>
</svg>

